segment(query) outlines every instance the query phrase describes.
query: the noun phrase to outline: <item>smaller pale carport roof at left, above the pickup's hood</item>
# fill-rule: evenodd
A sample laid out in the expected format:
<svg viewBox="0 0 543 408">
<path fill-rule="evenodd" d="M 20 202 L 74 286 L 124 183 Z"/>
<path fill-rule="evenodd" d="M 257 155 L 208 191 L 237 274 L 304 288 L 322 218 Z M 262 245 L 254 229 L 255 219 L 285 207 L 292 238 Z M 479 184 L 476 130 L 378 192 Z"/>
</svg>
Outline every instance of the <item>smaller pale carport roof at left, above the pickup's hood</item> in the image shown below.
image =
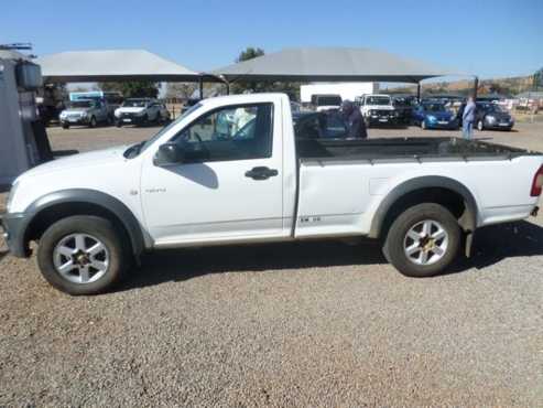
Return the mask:
<svg viewBox="0 0 543 408">
<path fill-rule="evenodd" d="M 145 50 L 72 51 L 35 60 L 44 82 L 172 80 L 195 82 L 200 75 Z"/>
</svg>

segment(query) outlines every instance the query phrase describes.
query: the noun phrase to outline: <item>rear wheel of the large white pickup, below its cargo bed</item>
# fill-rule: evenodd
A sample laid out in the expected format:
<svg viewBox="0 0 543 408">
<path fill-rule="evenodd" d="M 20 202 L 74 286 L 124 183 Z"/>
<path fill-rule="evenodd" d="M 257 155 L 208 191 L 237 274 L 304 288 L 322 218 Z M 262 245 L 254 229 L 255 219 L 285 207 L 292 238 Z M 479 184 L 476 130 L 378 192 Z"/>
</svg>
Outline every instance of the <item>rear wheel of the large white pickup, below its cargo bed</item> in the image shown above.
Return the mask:
<svg viewBox="0 0 543 408">
<path fill-rule="evenodd" d="M 431 223 L 431 236 L 439 238 L 430 241 L 426 240 L 427 238 L 421 238 L 427 236 L 424 228 L 428 222 Z M 439 228 L 445 232 L 445 235 Z M 412 238 L 413 233 L 421 238 L 419 243 Z M 454 215 L 442 205 L 424 203 L 408 208 L 392 223 L 387 234 L 383 254 L 402 275 L 415 278 L 432 277 L 443 272 L 454 261 L 460 241 L 460 227 Z M 417 250 L 423 244 L 426 249 L 433 247 L 432 249 L 432 249 Z M 410 248 L 412 254 L 408 255 Z M 439 248 L 441 254 L 437 253 Z"/>
</svg>

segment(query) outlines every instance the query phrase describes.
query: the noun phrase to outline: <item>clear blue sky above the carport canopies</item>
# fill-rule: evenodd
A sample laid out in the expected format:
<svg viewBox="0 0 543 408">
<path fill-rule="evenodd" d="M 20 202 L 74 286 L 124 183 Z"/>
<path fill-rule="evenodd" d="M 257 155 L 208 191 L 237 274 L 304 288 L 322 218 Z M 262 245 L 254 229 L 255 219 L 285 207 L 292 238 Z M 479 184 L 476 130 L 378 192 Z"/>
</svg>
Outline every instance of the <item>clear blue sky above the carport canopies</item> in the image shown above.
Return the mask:
<svg viewBox="0 0 543 408">
<path fill-rule="evenodd" d="M 542 0 L 10 1 L 0 43 L 39 55 L 146 49 L 195 71 L 246 46 L 366 46 L 481 77 L 543 67 Z"/>
</svg>

